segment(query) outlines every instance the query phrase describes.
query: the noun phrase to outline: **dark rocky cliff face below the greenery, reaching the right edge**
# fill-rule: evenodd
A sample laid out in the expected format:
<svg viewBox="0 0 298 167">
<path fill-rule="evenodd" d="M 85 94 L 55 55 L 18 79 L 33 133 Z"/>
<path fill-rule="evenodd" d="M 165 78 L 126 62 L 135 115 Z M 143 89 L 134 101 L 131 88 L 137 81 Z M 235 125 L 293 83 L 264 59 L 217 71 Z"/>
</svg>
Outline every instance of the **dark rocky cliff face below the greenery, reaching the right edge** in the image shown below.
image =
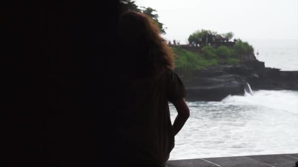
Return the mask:
<svg viewBox="0 0 298 167">
<path fill-rule="evenodd" d="M 221 101 L 231 95 L 244 95 L 246 83 L 253 90 L 298 90 L 298 71 L 280 71 L 264 62 L 247 61 L 243 65 L 218 65 L 193 71 L 185 82 L 188 101 Z"/>
</svg>

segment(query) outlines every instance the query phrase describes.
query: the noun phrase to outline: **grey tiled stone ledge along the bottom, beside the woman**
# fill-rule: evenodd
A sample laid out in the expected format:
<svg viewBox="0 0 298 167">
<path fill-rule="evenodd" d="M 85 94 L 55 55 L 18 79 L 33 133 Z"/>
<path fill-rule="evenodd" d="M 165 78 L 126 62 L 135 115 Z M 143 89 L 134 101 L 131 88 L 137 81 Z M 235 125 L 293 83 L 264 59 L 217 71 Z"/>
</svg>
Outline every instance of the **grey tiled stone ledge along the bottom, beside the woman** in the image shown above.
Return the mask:
<svg viewBox="0 0 298 167">
<path fill-rule="evenodd" d="M 167 167 L 295 167 L 297 154 L 252 155 L 238 157 L 173 160 Z"/>
</svg>

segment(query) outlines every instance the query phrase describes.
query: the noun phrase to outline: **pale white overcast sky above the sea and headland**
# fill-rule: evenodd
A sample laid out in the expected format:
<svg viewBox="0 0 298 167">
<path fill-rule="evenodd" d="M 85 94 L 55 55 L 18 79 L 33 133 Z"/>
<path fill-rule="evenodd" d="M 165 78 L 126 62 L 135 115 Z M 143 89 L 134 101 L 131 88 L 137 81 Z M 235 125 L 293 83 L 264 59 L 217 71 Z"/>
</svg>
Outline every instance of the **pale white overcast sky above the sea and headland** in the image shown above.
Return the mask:
<svg viewBox="0 0 298 167">
<path fill-rule="evenodd" d="M 134 0 L 157 10 L 164 38 L 185 43 L 198 29 L 241 39 L 298 39 L 298 0 Z"/>
</svg>

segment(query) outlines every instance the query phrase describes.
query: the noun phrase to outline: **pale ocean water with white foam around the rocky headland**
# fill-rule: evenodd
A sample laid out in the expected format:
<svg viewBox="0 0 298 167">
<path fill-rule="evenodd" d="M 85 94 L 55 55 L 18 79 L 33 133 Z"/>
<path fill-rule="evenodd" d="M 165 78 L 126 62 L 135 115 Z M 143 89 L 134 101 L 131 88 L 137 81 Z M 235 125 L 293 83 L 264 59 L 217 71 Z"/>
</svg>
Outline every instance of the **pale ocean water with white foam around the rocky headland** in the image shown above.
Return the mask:
<svg viewBox="0 0 298 167">
<path fill-rule="evenodd" d="M 298 40 L 247 41 L 266 67 L 298 70 Z M 175 136 L 169 160 L 298 153 L 298 91 L 259 90 L 187 104 L 191 116 Z M 173 123 L 173 104 L 170 112 Z"/>
</svg>

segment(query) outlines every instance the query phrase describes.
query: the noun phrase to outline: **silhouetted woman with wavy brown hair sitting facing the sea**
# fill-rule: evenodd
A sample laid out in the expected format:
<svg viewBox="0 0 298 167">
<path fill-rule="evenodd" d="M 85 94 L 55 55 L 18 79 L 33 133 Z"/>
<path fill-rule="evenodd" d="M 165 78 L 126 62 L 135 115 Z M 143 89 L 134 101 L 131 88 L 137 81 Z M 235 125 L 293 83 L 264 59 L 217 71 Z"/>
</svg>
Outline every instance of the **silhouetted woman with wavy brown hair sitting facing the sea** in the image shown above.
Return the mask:
<svg viewBox="0 0 298 167">
<path fill-rule="evenodd" d="M 121 164 L 162 165 L 174 148 L 174 136 L 189 117 L 186 90 L 172 71 L 174 53 L 147 15 L 126 12 L 119 21 L 117 155 Z M 178 115 L 172 125 L 169 104 Z"/>
</svg>

